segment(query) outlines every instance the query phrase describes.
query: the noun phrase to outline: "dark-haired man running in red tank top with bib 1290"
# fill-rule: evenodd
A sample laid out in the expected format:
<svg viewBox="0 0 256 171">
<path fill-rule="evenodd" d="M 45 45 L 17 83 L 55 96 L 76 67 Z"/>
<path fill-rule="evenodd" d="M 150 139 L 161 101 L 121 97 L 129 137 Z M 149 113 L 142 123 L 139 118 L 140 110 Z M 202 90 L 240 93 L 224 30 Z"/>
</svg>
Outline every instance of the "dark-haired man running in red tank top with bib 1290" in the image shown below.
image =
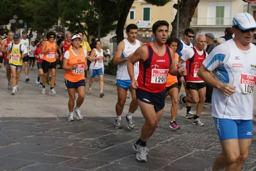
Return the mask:
<svg viewBox="0 0 256 171">
<path fill-rule="evenodd" d="M 141 108 L 145 123 L 142 126 L 141 137 L 134 143 L 136 158 L 148 160 L 146 142 L 155 132 L 158 121 L 162 117 L 166 95 L 166 77 L 169 73 L 175 76 L 186 75 L 182 68 L 176 69 L 173 50 L 165 45 L 168 37 L 169 24 L 159 20 L 153 24 L 152 32 L 155 40 L 142 45 L 128 59 L 127 67 L 132 88 L 136 89 L 137 101 Z M 134 64 L 139 61 L 139 77 L 134 76 Z"/>
</svg>

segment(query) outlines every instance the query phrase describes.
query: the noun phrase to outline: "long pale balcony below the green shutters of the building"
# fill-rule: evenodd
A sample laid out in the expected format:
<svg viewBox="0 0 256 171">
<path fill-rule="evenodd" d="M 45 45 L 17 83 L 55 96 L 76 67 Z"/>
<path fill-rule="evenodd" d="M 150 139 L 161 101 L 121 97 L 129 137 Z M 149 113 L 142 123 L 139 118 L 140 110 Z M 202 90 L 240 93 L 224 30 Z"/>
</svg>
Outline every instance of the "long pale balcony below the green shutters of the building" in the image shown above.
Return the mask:
<svg viewBox="0 0 256 171">
<path fill-rule="evenodd" d="M 192 18 L 191 26 L 194 27 L 226 27 L 232 25 L 232 18 Z"/>
</svg>

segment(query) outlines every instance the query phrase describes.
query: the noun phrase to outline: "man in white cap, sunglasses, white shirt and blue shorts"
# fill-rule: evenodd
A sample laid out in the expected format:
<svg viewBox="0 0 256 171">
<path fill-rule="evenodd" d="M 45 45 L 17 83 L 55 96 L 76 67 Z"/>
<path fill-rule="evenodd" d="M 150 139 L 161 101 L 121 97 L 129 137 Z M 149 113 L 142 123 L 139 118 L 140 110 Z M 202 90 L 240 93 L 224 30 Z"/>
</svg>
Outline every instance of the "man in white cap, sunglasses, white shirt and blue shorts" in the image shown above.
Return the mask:
<svg viewBox="0 0 256 171">
<path fill-rule="evenodd" d="M 241 170 L 248 157 L 256 81 L 256 47 L 252 44 L 255 29 L 252 15 L 235 15 L 232 23 L 235 37 L 215 47 L 198 71 L 198 76 L 214 87 L 212 117 L 223 149 L 206 170 Z"/>
</svg>

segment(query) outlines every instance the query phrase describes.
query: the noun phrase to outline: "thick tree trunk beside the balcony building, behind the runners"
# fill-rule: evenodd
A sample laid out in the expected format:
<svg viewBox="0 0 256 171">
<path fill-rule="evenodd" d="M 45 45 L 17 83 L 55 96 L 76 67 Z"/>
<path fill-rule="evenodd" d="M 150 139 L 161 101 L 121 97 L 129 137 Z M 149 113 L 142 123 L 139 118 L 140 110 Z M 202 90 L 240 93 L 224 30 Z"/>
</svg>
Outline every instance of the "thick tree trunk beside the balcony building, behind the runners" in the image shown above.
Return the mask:
<svg viewBox="0 0 256 171">
<path fill-rule="evenodd" d="M 183 6 L 180 8 L 180 19 L 178 24 L 178 38 L 183 37 L 183 33 L 185 29 L 189 28 L 191 19 L 194 15 L 194 11 L 196 10 L 196 6 L 198 6 L 200 0 L 183 0 Z M 180 5 L 181 6 L 181 5 Z M 177 31 L 177 15 L 175 16 L 175 20 L 171 22 L 171 26 L 173 26 L 173 30 L 171 31 L 171 37 L 176 38 Z"/>
</svg>

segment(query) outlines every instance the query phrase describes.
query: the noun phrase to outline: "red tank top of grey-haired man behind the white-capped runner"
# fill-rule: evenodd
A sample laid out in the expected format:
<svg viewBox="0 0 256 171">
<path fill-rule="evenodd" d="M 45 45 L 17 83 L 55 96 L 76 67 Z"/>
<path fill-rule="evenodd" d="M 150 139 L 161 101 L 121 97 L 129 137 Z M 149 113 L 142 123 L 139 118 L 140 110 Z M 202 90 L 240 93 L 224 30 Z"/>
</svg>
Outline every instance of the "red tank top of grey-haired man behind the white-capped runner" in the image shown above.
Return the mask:
<svg viewBox="0 0 256 171">
<path fill-rule="evenodd" d="M 186 61 L 186 69 L 187 69 L 187 82 L 202 82 L 203 80 L 198 77 L 198 70 L 205 60 L 205 49 L 203 49 L 203 54 L 198 54 L 195 47 L 191 47 L 194 50 L 194 55 Z"/>
</svg>

